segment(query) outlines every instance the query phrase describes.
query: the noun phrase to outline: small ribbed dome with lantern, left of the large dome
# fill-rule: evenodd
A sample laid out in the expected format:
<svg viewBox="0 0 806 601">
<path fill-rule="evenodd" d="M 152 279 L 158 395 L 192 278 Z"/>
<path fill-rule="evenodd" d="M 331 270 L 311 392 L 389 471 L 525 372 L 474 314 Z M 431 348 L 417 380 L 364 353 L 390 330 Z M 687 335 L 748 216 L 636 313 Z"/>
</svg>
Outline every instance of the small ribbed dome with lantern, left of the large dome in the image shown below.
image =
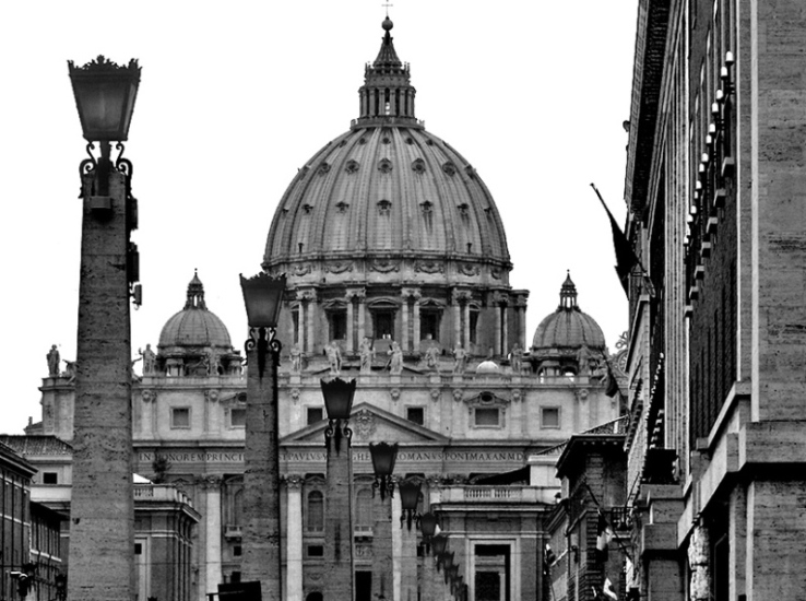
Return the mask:
<svg viewBox="0 0 806 601">
<path fill-rule="evenodd" d="M 174 315 L 159 334 L 159 350 L 181 347 L 218 347 L 232 351 L 229 332 L 218 317 L 208 310 L 204 303 L 204 286 L 198 274 L 188 284 L 185 308 Z"/>
</svg>

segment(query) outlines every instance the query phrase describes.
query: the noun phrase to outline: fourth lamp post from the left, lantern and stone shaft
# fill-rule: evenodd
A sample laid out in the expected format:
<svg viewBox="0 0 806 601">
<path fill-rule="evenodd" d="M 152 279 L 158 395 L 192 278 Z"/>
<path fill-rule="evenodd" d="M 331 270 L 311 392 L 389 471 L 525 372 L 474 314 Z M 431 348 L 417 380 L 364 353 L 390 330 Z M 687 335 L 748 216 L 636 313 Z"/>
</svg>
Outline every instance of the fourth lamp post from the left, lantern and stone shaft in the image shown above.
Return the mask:
<svg viewBox="0 0 806 601">
<path fill-rule="evenodd" d="M 393 597 L 393 565 L 392 565 L 392 495 L 394 481 L 392 472 L 398 459 L 398 444 L 369 444 L 372 456 L 375 482 L 372 495 L 380 491 L 380 499 L 375 503 L 375 527 L 372 530 L 372 599 Z"/>
</svg>

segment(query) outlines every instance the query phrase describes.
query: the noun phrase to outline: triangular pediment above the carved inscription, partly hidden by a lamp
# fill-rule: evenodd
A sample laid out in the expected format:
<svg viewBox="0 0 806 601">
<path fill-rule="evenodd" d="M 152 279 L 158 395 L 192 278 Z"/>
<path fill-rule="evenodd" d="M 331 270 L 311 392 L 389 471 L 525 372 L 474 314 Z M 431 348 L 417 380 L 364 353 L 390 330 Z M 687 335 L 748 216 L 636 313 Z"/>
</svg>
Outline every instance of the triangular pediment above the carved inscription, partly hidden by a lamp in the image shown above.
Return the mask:
<svg viewBox="0 0 806 601">
<path fill-rule="evenodd" d="M 323 444 L 328 422 L 311 424 L 284 436 L 280 444 L 293 443 Z M 353 445 L 376 443 L 438 443 L 448 444 L 449 438 L 425 426 L 404 420 L 370 403 L 358 403 L 353 408 L 349 419 L 353 431 Z"/>
</svg>

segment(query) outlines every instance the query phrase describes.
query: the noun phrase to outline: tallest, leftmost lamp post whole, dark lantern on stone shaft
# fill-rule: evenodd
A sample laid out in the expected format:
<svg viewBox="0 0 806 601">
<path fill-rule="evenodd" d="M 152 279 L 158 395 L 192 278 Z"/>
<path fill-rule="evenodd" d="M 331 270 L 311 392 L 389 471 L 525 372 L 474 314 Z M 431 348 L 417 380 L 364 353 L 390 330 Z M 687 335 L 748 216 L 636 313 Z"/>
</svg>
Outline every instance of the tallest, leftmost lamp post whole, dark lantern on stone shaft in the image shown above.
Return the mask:
<svg viewBox="0 0 806 601">
<path fill-rule="evenodd" d="M 131 322 L 129 296 L 139 280 L 131 163 L 109 160 L 110 142 L 128 139 L 140 67 L 98 57 L 68 61 L 88 142 L 81 163 L 81 271 L 70 507 L 70 599 L 134 597 Z M 100 145 L 95 157 L 94 142 Z M 139 295 L 139 287 L 138 295 Z"/>
</svg>

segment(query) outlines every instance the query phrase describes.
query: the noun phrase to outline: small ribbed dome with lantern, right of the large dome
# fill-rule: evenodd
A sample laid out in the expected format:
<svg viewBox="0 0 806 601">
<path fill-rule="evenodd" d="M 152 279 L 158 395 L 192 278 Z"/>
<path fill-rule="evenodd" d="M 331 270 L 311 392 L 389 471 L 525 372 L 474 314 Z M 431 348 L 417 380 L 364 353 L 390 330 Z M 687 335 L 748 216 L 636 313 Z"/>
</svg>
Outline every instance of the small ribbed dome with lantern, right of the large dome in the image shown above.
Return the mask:
<svg viewBox="0 0 806 601">
<path fill-rule="evenodd" d="M 577 286 L 569 274 L 560 290 L 559 307 L 534 332 L 532 353 L 538 357 L 562 355 L 576 353 L 583 345 L 604 351 L 605 340 L 598 323 L 577 305 Z"/>
</svg>

